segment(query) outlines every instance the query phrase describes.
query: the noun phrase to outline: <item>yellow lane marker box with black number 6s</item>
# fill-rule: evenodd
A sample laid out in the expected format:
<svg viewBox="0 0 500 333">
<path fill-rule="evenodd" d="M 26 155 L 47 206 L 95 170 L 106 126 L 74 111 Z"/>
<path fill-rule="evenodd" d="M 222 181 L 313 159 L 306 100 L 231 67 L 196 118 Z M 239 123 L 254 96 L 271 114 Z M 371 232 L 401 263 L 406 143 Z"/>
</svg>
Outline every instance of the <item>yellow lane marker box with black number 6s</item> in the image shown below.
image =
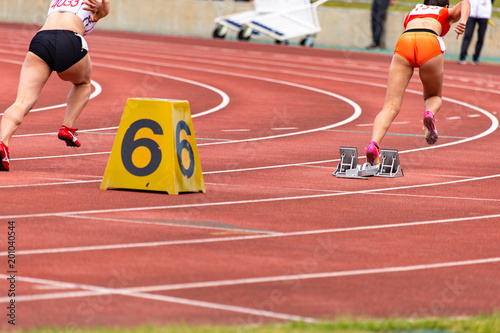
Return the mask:
<svg viewBox="0 0 500 333">
<path fill-rule="evenodd" d="M 127 100 L 101 189 L 203 192 L 187 101 Z"/>
</svg>

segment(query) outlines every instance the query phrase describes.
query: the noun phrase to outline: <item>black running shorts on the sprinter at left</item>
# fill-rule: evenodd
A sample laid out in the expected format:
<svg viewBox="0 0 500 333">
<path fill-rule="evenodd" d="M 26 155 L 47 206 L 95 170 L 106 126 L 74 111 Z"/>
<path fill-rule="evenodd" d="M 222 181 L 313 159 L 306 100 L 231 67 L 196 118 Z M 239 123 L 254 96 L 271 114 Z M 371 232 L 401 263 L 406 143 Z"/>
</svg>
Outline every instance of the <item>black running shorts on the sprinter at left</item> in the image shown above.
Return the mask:
<svg viewBox="0 0 500 333">
<path fill-rule="evenodd" d="M 31 40 L 29 50 L 58 73 L 82 60 L 88 52 L 83 37 L 69 30 L 39 31 Z"/>
</svg>

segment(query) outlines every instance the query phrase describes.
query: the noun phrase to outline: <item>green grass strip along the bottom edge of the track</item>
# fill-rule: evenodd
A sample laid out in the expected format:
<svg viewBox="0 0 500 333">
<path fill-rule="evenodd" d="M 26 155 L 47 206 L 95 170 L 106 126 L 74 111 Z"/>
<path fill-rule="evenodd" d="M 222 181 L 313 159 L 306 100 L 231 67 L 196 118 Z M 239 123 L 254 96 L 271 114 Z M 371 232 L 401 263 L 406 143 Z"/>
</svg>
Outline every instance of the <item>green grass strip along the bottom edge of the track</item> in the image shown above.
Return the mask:
<svg viewBox="0 0 500 333">
<path fill-rule="evenodd" d="M 352 319 L 341 318 L 314 324 L 292 322 L 261 326 L 191 326 L 139 328 L 40 328 L 17 333 L 498 333 L 500 313 L 466 318 Z"/>
</svg>

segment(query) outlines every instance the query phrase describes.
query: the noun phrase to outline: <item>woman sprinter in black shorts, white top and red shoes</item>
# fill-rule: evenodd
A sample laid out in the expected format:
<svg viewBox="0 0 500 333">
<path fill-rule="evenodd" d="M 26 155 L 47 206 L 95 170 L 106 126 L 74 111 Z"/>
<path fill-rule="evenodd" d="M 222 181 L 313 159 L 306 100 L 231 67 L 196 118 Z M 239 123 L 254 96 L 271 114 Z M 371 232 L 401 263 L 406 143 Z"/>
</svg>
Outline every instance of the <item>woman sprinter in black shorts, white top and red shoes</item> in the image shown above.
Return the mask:
<svg viewBox="0 0 500 333">
<path fill-rule="evenodd" d="M 3 114 L 0 124 L 0 171 L 9 171 L 9 141 L 40 97 L 53 71 L 73 83 L 58 137 L 79 147 L 72 128 L 90 98 L 92 63 L 83 38 L 96 22 L 108 15 L 110 0 L 52 0 L 45 24 L 33 37 L 21 69 L 17 98 Z"/>
</svg>

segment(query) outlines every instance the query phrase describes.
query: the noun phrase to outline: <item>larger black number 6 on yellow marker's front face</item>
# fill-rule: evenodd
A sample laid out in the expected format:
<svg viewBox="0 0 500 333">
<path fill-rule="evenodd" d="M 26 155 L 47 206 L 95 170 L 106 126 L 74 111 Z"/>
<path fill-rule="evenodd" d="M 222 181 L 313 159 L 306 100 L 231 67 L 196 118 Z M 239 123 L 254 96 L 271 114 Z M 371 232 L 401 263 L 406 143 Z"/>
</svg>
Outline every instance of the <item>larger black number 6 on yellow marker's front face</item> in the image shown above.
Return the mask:
<svg viewBox="0 0 500 333">
<path fill-rule="evenodd" d="M 145 177 L 155 172 L 160 166 L 162 155 L 160 146 L 149 138 L 135 140 L 135 135 L 142 128 L 149 128 L 156 135 L 163 135 L 160 124 L 151 119 L 140 119 L 132 123 L 125 132 L 122 142 L 122 162 L 125 169 L 134 176 Z M 151 160 L 145 167 L 139 168 L 132 161 L 132 154 L 139 147 L 146 147 L 151 152 Z"/>
</svg>

